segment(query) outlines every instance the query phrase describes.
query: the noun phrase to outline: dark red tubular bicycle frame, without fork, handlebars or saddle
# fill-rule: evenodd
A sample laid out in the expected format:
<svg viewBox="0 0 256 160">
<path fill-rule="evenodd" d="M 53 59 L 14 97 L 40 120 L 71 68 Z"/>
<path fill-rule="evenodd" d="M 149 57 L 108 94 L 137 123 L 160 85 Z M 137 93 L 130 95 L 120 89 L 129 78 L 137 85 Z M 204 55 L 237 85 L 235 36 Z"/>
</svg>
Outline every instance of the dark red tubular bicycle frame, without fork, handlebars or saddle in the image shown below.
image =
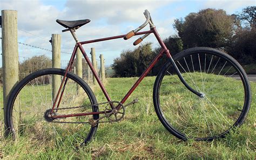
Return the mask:
<svg viewBox="0 0 256 160">
<path fill-rule="evenodd" d="M 145 71 L 143 72 L 143 74 L 139 77 L 139 79 L 135 82 L 135 84 L 131 87 L 131 89 L 129 90 L 129 92 L 127 92 L 127 94 L 124 96 L 124 98 L 122 99 L 122 101 L 120 101 L 121 103 L 124 103 L 128 98 L 129 96 L 132 94 L 132 92 L 134 91 L 134 89 L 137 88 L 137 86 L 140 84 L 140 82 L 145 78 L 145 76 L 147 75 L 147 73 L 149 73 L 152 69 L 152 67 L 154 65 L 156 65 L 157 61 L 159 60 L 160 57 L 163 56 L 164 53 L 166 53 L 167 57 L 171 58 L 171 54 L 169 52 L 169 50 L 167 50 L 165 44 L 163 43 L 163 41 L 160 39 L 159 37 L 159 34 L 156 30 L 156 28 L 153 28 L 149 31 L 144 31 L 144 32 L 138 32 L 136 33 L 135 35 L 141 35 L 141 34 L 146 34 L 146 33 L 154 33 L 154 35 L 156 36 L 160 46 L 162 47 L 161 51 L 157 54 L 157 56 L 152 60 L 151 64 L 149 65 L 149 67 L 147 67 L 145 69 Z M 56 108 L 59 107 L 60 105 L 60 101 L 62 99 L 62 95 L 63 95 L 63 92 L 64 92 L 64 88 L 65 88 L 65 85 L 66 85 L 66 81 L 68 81 L 68 79 L 66 78 L 66 74 L 68 73 L 68 71 L 71 71 L 71 66 L 73 64 L 73 61 L 75 59 L 75 55 L 76 55 L 76 52 L 77 52 L 77 49 L 79 48 L 80 51 L 82 52 L 87 64 L 89 65 L 91 71 L 92 71 L 92 74 L 95 76 L 100 88 L 102 89 L 102 92 L 104 93 L 105 97 L 106 97 L 106 100 L 107 101 L 111 101 L 111 98 L 109 96 L 109 94 L 107 93 L 106 91 L 106 88 L 104 87 L 104 85 L 102 84 L 102 81 L 99 79 L 99 76 L 97 74 L 97 72 L 95 71 L 95 68 L 93 68 L 92 66 L 92 63 L 89 59 L 89 57 L 87 56 L 87 54 L 85 53 L 84 51 L 84 48 L 82 45 L 84 44 L 89 44 L 89 43 L 95 43 L 95 42 L 98 42 L 98 41 L 105 41 L 105 40 L 111 40 L 111 39 L 118 39 L 118 38 L 124 38 L 125 34 L 124 35 L 120 35 L 120 36 L 114 36 L 114 37 L 107 37 L 107 38 L 100 38 L 100 39 L 94 39 L 94 40 L 87 40 L 87 41 L 82 41 L 82 42 L 78 42 L 72 52 L 72 55 L 71 55 L 71 58 L 70 58 L 70 61 L 69 61 L 69 64 L 68 64 L 68 67 L 66 68 L 66 72 L 64 74 L 64 78 L 62 80 L 62 83 L 60 84 L 60 87 L 59 87 L 59 91 L 56 95 L 56 98 L 55 98 L 55 101 L 53 103 L 53 106 L 52 106 L 52 112 L 53 110 Z M 63 89 L 62 89 L 63 88 Z M 58 99 L 59 97 L 59 99 Z M 56 103 L 58 101 L 58 105 L 56 106 Z M 55 115 L 55 116 L 52 116 L 53 118 L 63 118 L 63 117 L 73 117 L 73 116 L 85 116 L 85 115 L 93 115 L 93 114 L 104 114 L 105 112 L 89 112 L 89 113 L 78 113 L 78 114 L 68 114 L 68 115 Z"/>
</svg>

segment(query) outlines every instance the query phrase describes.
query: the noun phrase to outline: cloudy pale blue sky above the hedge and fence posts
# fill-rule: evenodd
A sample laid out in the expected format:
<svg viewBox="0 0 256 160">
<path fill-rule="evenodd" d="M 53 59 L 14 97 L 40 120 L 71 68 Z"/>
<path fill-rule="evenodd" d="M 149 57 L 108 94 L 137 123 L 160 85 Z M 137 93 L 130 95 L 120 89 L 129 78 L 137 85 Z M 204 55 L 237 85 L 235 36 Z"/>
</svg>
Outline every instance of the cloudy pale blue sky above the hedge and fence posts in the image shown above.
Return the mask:
<svg viewBox="0 0 256 160">
<path fill-rule="evenodd" d="M 29 44 L 47 50 L 51 50 L 51 34 L 62 34 L 62 52 L 72 53 L 75 46 L 69 32 L 62 33 L 65 29 L 56 23 L 56 19 L 79 20 L 90 19 L 91 22 L 80 27 L 76 34 L 79 41 L 105 38 L 126 34 L 136 29 L 145 22 L 143 12 L 145 9 L 151 13 L 152 20 L 162 39 L 172 34 L 177 34 L 173 29 L 174 19 L 185 17 L 191 12 L 198 12 L 202 9 L 213 8 L 223 9 L 228 14 L 239 12 L 246 6 L 256 5 L 256 1 L 151 1 L 151 0 L 130 0 L 130 1 L 79 1 L 79 0 L 0 0 L 0 10 L 17 10 L 18 12 L 18 42 Z M 146 26 L 142 31 L 149 29 Z M 2 32 L 0 32 L 2 37 Z M 119 57 L 125 50 L 133 50 L 133 41 L 138 37 L 129 40 L 116 39 L 93 44 L 83 45 L 85 52 L 90 57 L 90 48 L 96 48 L 96 56 L 104 55 L 105 65 L 113 64 L 113 59 Z M 0 39 L 1 40 L 1 39 Z M 156 38 L 151 34 L 143 40 L 143 43 L 152 42 L 153 47 L 159 46 Z M 33 48 L 30 46 L 18 45 L 20 61 L 22 57 L 28 58 L 33 55 L 45 54 L 51 57 L 51 52 Z M 2 46 L 0 46 L 2 51 Z M 62 53 L 61 59 L 69 60 L 70 54 Z M 98 62 L 99 64 L 99 62 Z M 2 66 L 2 57 L 0 57 Z M 63 66 L 62 66 L 63 67 Z"/>
</svg>

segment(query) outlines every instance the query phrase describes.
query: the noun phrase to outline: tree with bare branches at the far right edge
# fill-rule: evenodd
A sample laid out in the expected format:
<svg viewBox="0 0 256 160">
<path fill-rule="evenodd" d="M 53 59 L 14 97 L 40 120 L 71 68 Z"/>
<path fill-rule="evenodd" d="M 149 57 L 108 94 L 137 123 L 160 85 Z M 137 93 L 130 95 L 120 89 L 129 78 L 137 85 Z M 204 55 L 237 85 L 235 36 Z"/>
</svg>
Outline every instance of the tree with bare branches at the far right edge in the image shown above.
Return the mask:
<svg viewBox="0 0 256 160">
<path fill-rule="evenodd" d="M 233 14 L 237 30 L 226 48 L 241 64 L 256 63 L 256 6 L 247 6 Z"/>
</svg>

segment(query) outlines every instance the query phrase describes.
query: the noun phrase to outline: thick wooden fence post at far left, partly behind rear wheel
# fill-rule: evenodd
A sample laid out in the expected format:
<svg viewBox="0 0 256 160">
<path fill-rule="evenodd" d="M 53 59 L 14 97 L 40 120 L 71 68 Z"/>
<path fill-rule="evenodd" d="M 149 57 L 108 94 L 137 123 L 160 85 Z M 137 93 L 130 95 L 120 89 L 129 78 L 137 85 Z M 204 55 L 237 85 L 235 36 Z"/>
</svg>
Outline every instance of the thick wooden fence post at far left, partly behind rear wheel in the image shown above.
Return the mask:
<svg viewBox="0 0 256 160">
<path fill-rule="evenodd" d="M 18 36 L 17 36 L 17 11 L 2 10 L 2 60 L 3 60 L 3 105 L 4 115 L 10 91 L 19 79 L 19 57 L 18 57 Z M 17 104 L 18 105 L 18 104 Z M 17 107 L 18 109 L 19 107 Z M 17 112 L 19 112 L 17 110 Z M 16 115 L 14 115 L 16 116 Z M 17 121 L 19 117 L 16 117 Z M 4 120 L 6 127 L 6 120 Z"/>
</svg>

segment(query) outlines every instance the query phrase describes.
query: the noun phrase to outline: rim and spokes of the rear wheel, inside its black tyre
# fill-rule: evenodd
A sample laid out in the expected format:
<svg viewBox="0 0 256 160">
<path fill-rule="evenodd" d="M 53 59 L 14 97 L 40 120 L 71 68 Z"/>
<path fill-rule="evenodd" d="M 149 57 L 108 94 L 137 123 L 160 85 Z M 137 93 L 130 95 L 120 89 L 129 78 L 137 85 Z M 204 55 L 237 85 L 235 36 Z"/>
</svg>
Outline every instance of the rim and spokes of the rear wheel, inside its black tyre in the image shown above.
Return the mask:
<svg viewBox="0 0 256 160">
<path fill-rule="evenodd" d="M 59 81 L 63 79 L 63 73 L 62 75 L 41 74 L 24 83 L 21 89 L 19 89 L 10 109 L 12 133 L 15 134 L 16 138 L 29 138 L 31 142 L 40 145 L 44 143 L 49 145 L 49 142 L 56 145 L 70 145 L 90 140 L 93 130 L 96 129 L 95 127 L 91 127 L 89 124 L 63 122 L 88 122 L 89 119 L 93 118 L 91 115 L 86 117 L 68 117 L 54 121 L 45 119 L 46 110 L 51 109 L 52 106 L 53 76 L 57 76 Z M 93 100 L 83 85 L 75 80 L 73 76 L 68 75 L 68 78 L 69 80 L 66 83 L 57 114 L 64 115 L 95 111 L 91 107 Z M 81 108 L 62 110 L 62 108 L 78 106 Z"/>
</svg>

